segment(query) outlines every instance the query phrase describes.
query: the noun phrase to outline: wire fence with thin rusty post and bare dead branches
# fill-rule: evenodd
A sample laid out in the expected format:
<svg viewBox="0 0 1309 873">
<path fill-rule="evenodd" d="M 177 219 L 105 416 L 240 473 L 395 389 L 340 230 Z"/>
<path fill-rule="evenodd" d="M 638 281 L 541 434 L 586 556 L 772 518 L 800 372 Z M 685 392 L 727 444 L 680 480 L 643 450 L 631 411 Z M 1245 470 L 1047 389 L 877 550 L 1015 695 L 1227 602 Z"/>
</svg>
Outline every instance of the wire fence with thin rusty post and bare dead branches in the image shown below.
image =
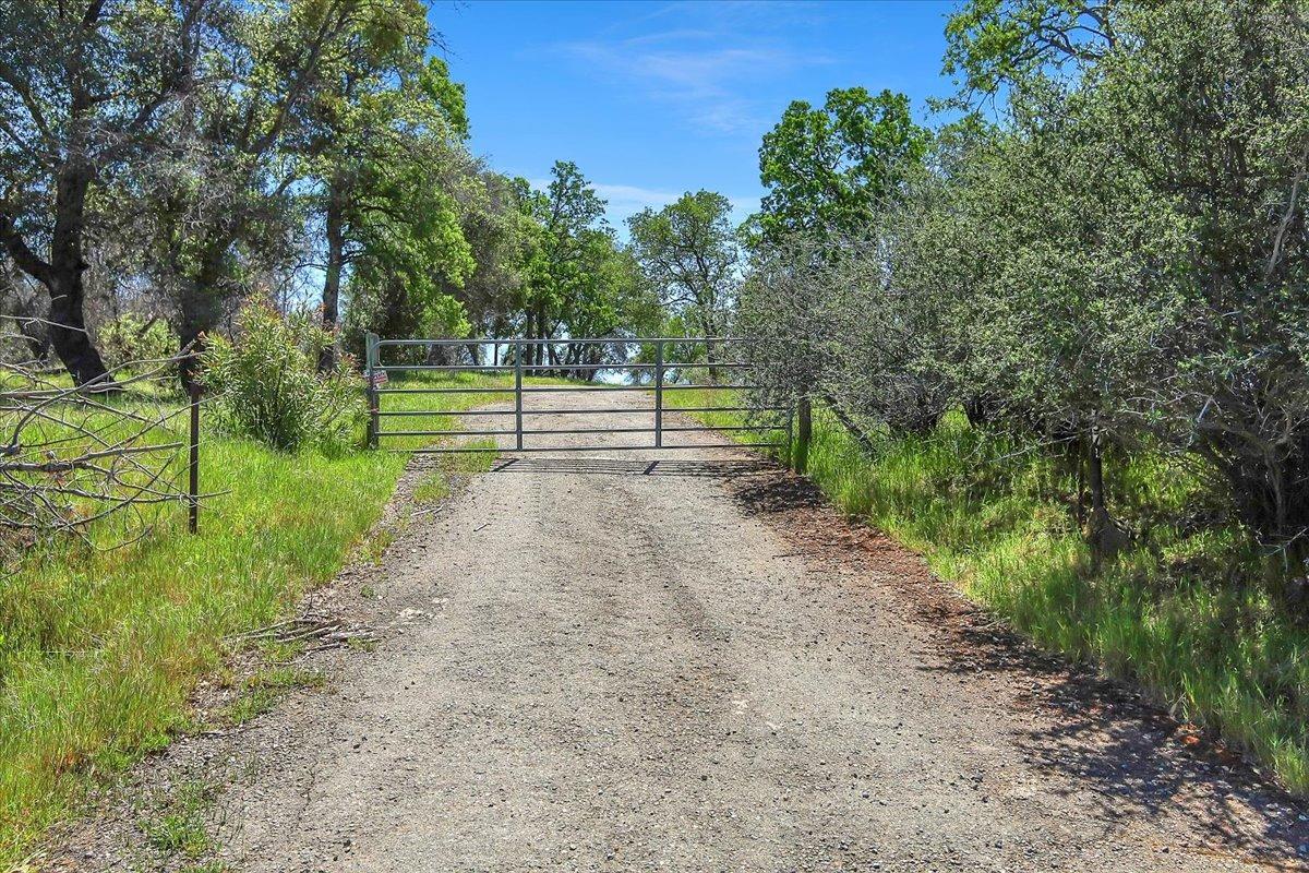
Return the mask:
<svg viewBox="0 0 1309 873">
<path fill-rule="evenodd" d="M 20 321 L 30 319 L 0 315 L 3 565 L 14 568 L 59 538 L 126 546 L 168 508 L 185 508 L 195 531 L 200 397 L 177 378 L 192 349 L 128 361 L 73 386 L 48 361 L 18 360 L 29 348 Z"/>
</svg>

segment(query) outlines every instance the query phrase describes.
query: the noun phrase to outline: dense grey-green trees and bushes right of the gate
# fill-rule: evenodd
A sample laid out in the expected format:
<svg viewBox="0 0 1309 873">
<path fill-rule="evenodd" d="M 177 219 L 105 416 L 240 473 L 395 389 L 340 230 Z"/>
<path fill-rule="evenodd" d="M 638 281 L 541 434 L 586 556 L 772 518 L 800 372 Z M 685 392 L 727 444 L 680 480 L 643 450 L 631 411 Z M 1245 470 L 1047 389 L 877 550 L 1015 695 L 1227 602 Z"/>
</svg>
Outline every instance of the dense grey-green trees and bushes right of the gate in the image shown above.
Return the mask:
<svg viewBox="0 0 1309 873">
<path fill-rule="evenodd" d="M 761 390 L 1066 457 L 1103 548 L 1106 465 L 1162 453 L 1304 556 L 1309 5 L 970 0 L 946 37 L 957 120 L 835 90 L 764 139 Z"/>
</svg>

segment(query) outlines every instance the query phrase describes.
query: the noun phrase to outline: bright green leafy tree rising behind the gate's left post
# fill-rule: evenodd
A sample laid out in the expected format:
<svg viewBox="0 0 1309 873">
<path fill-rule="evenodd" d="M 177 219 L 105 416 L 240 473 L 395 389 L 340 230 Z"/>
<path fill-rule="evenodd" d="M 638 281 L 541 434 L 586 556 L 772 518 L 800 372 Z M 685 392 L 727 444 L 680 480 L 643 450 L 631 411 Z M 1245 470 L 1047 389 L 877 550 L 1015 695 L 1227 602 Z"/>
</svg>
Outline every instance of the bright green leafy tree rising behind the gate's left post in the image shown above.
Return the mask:
<svg viewBox="0 0 1309 873">
<path fill-rule="evenodd" d="M 462 336 L 469 326 L 453 292 L 475 262 L 461 198 L 474 199 L 482 183 L 461 173 L 463 92 L 439 59 L 406 59 L 394 82 L 385 72 L 343 96 L 331 145 L 312 162 L 326 229 L 325 313 L 335 323 L 344 276 L 353 334 Z"/>
</svg>

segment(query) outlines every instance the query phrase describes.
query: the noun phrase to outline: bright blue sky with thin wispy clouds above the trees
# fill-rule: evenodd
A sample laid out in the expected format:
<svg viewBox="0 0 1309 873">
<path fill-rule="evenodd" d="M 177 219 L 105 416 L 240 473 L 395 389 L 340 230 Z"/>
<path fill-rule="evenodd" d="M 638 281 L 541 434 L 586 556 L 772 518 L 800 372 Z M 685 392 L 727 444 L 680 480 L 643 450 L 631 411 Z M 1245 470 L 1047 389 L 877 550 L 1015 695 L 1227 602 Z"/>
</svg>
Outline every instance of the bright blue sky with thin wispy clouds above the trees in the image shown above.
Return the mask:
<svg viewBox="0 0 1309 873">
<path fill-rule="evenodd" d="M 473 148 L 543 183 L 577 164 L 618 226 L 682 191 L 758 207 L 759 140 L 831 88 L 945 96 L 952 3 L 445 3 L 431 21 L 467 89 Z"/>
</svg>

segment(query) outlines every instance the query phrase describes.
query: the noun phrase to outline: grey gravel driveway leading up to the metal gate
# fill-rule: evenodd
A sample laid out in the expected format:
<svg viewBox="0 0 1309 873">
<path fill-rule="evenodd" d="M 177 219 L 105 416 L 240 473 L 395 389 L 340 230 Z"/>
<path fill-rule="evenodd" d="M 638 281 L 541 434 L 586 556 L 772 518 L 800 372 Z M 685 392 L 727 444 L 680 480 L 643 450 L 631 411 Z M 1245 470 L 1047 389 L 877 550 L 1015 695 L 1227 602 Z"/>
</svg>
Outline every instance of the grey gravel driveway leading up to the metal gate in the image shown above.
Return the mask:
<svg viewBox="0 0 1309 873">
<path fill-rule="evenodd" d="M 805 483 L 682 455 L 501 459 L 342 581 L 385 641 L 213 741 L 225 860 L 1301 869 L 1305 810 L 1240 760 L 1028 652 Z"/>
</svg>

